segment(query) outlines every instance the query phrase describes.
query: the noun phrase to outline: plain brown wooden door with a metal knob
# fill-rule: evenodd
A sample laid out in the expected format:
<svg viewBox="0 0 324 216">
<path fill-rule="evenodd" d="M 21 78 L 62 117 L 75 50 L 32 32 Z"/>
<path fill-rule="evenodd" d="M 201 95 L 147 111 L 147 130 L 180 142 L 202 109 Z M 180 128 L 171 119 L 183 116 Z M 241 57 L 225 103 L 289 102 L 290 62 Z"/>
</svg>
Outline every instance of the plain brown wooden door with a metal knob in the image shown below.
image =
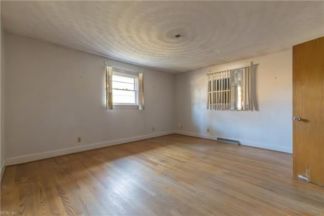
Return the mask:
<svg viewBox="0 0 324 216">
<path fill-rule="evenodd" d="M 293 46 L 294 176 L 318 185 L 324 185 L 323 59 L 324 37 Z"/>
</svg>

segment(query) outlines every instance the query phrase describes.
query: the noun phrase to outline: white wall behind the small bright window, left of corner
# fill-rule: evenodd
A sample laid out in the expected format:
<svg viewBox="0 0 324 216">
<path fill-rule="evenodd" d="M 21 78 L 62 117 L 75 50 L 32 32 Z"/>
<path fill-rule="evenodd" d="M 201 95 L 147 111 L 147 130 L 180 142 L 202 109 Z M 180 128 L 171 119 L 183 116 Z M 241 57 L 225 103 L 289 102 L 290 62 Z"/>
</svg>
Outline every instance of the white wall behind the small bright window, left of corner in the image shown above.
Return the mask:
<svg viewBox="0 0 324 216">
<path fill-rule="evenodd" d="M 7 165 L 175 129 L 174 75 L 9 32 L 6 59 Z M 145 110 L 105 110 L 104 60 L 143 70 Z"/>
</svg>

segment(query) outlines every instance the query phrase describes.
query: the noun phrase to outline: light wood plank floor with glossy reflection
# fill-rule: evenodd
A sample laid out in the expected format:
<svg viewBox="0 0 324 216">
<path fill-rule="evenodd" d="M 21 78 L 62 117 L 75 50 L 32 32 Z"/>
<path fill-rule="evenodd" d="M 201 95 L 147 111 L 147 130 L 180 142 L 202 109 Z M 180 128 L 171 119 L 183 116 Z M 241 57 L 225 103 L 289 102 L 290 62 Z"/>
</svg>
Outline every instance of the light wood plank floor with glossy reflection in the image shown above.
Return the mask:
<svg viewBox="0 0 324 216">
<path fill-rule="evenodd" d="M 324 189 L 292 155 L 168 135 L 6 167 L 19 215 L 323 215 Z"/>
</svg>

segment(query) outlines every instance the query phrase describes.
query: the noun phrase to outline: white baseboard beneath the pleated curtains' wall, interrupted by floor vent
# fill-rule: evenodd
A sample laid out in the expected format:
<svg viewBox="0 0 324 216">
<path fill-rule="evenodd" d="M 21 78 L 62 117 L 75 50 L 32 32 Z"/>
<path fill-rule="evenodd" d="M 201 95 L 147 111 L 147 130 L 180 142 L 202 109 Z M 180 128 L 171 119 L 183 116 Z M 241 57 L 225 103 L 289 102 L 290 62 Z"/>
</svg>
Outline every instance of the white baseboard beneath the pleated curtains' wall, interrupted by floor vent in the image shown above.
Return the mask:
<svg viewBox="0 0 324 216">
<path fill-rule="evenodd" d="M 194 136 L 194 137 L 199 137 L 199 138 L 204 138 L 204 139 L 213 139 L 213 140 L 217 139 L 217 136 L 209 136 L 209 135 L 191 133 L 191 132 L 180 131 L 180 130 L 176 130 L 176 131 L 174 131 L 174 133 L 186 135 L 186 136 Z M 293 153 L 293 150 L 291 148 L 287 148 L 287 147 L 275 146 L 275 145 L 270 145 L 270 144 L 260 143 L 260 142 L 251 142 L 251 141 L 247 141 L 247 140 L 240 140 L 239 138 L 233 138 L 233 137 L 226 137 L 226 138 L 233 139 L 233 140 L 239 140 L 239 142 L 241 143 L 242 146 L 251 146 L 251 147 L 256 147 L 256 148 L 260 148 L 260 149 L 268 149 L 268 150 L 273 150 L 273 151 L 278 151 L 278 152 Z"/>
</svg>

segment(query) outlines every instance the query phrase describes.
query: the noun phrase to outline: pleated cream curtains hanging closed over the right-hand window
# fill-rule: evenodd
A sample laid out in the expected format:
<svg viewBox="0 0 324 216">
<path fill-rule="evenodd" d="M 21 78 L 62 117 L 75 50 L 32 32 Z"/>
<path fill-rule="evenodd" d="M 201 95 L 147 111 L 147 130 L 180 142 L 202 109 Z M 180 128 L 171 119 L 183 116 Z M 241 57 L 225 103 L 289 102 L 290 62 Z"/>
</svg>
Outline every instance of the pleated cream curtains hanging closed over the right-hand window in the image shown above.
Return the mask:
<svg viewBox="0 0 324 216">
<path fill-rule="evenodd" d="M 253 110 L 252 65 L 207 74 L 207 109 Z"/>
</svg>

